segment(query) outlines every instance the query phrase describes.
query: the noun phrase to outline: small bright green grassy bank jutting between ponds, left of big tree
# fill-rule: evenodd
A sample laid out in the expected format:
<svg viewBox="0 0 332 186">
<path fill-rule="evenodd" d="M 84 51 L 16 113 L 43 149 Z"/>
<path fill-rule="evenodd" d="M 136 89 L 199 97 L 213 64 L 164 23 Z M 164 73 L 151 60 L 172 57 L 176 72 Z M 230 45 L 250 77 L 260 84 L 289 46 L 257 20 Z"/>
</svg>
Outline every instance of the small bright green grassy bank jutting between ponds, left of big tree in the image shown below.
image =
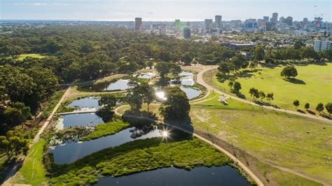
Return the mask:
<svg viewBox="0 0 332 186">
<path fill-rule="evenodd" d="M 108 136 L 111 134 L 116 134 L 117 132 L 127 129 L 130 127 L 130 124 L 127 122 L 123 122 L 123 120 L 116 120 L 113 122 L 101 123 L 95 127 L 95 130 L 92 133 L 88 134 L 88 136 L 84 136 L 81 138 L 81 141 L 89 141 L 92 139 L 101 138 L 103 136 Z"/>
</svg>

